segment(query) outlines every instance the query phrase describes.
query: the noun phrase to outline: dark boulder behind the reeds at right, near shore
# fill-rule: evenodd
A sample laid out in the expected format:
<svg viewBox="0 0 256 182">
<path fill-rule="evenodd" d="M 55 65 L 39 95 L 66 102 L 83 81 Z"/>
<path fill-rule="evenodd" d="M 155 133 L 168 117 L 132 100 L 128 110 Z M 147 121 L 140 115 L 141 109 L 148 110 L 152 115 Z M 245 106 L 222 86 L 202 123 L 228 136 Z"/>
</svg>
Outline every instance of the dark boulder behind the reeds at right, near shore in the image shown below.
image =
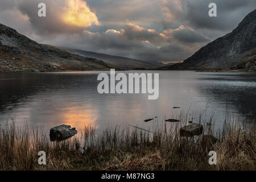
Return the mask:
<svg viewBox="0 0 256 182">
<path fill-rule="evenodd" d="M 191 125 L 181 127 L 180 136 L 193 137 L 195 135 L 201 135 L 203 133 L 203 129 L 203 125 L 199 123 L 192 123 Z"/>
</svg>

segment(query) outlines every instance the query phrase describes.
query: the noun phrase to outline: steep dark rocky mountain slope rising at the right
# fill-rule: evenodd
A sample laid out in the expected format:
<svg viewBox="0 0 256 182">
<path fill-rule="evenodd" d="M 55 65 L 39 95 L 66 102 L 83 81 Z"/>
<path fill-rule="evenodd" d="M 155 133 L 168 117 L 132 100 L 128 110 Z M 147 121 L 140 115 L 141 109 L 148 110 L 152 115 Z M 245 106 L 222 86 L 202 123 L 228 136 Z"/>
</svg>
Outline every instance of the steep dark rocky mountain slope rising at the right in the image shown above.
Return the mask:
<svg viewBox="0 0 256 182">
<path fill-rule="evenodd" d="M 232 32 L 202 47 L 183 63 L 160 69 L 256 70 L 256 10 L 246 15 Z"/>
</svg>

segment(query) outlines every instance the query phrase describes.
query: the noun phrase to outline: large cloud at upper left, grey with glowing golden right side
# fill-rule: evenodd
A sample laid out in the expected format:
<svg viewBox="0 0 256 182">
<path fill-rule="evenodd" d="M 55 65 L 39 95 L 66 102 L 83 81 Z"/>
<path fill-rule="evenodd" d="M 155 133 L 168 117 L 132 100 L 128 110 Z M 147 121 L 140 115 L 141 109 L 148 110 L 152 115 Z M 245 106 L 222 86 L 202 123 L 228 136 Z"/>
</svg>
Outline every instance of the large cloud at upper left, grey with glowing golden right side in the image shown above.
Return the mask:
<svg viewBox="0 0 256 182">
<path fill-rule="evenodd" d="M 40 2 L 47 5 L 45 18 L 38 16 L 37 7 Z M 82 0 L 23 0 L 18 9 L 29 17 L 35 31 L 41 35 L 73 34 L 82 32 L 92 24 L 99 25 L 96 14 Z"/>
</svg>

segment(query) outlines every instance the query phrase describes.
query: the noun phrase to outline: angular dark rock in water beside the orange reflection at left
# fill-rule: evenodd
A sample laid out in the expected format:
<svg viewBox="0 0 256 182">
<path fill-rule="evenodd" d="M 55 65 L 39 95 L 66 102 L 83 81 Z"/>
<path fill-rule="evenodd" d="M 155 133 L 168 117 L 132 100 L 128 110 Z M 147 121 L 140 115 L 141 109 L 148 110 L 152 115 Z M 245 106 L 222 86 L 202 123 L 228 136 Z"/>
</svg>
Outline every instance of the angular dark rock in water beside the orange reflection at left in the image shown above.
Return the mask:
<svg viewBox="0 0 256 182">
<path fill-rule="evenodd" d="M 77 134 L 77 130 L 75 127 L 71 127 L 70 125 L 60 125 L 53 127 L 50 130 L 50 139 L 51 141 L 60 141 L 73 137 Z"/>
</svg>

